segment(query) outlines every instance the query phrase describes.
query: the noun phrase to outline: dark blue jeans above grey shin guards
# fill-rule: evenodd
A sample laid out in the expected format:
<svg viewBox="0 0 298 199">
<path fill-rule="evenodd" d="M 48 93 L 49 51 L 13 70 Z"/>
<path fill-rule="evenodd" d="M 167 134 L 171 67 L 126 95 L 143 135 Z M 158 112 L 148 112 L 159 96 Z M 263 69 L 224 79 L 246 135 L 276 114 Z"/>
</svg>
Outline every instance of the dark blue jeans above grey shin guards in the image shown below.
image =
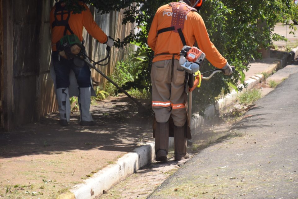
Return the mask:
<svg viewBox="0 0 298 199">
<path fill-rule="evenodd" d="M 60 57 L 60 61 L 59 61 L 58 51 L 52 52 L 52 61 L 53 61 L 54 69 L 56 73 L 57 89 L 69 87 L 70 69 L 72 69 L 75 72 L 75 77 L 77 79 L 77 82 L 80 88 L 88 88 L 91 86 L 91 82 L 90 82 L 91 71 L 86 63 L 84 67 L 78 67 L 73 63 L 73 60 L 67 60 L 65 58 Z"/>
</svg>

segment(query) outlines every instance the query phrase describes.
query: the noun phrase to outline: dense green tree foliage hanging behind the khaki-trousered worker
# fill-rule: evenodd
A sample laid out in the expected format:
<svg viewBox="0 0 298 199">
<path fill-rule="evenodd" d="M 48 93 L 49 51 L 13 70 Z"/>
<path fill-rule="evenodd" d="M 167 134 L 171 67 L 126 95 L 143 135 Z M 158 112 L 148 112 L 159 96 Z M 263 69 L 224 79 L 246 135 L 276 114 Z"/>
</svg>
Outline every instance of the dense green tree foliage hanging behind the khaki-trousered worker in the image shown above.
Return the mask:
<svg viewBox="0 0 298 199">
<path fill-rule="evenodd" d="M 64 0 L 75 12 L 80 12 L 78 7 L 73 7 L 78 0 Z M 140 33 L 132 32 L 124 40 L 116 39 L 116 47 L 137 42 L 140 44 L 135 56 L 146 56 L 141 62 L 142 72 L 137 80 L 128 82 L 124 89 L 140 88 L 150 89 L 150 71 L 153 52 L 147 47 L 147 33 L 158 7 L 173 2 L 169 0 L 84 0 L 92 4 L 98 12 L 108 13 L 111 10 L 125 9 L 123 24 L 135 23 L 142 28 Z M 251 60 L 259 59 L 258 49 L 272 45 L 273 39 L 285 39 L 273 33 L 274 25 L 278 22 L 289 23 L 290 19 L 297 18 L 297 7 L 293 0 L 205 0 L 199 14 L 205 21 L 206 28 L 219 52 L 236 67 L 233 78 L 230 76 L 216 75 L 208 82 L 202 82 L 200 89 L 194 91 L 193 104 L 196 111 L 203 111 L 200 107 L 213 103 L 215 97 L 221 92 L 230 91 L 230 86 L 237 85 L 244 80 L 243 71 L 249 69 Z M 291 24 L 291 27 L 293 25 Z M 212 66 L 205 62 L 202 72 L 210 70 Z"/>
</svg>

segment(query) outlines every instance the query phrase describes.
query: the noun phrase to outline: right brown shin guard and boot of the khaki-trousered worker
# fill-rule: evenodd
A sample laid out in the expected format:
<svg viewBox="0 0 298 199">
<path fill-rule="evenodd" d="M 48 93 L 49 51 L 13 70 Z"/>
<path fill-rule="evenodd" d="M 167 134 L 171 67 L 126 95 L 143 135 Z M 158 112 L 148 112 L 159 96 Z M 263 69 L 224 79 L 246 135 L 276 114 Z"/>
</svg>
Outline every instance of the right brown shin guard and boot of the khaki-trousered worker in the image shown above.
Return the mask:
<svg viewBox="0 0 298 199">
<path fill-rule="evenodd" d="M 174 160 L 179 161 L 185 158 L 186 156 L 186 128 L 176 127 L 174 125 Z"/>
</svg>

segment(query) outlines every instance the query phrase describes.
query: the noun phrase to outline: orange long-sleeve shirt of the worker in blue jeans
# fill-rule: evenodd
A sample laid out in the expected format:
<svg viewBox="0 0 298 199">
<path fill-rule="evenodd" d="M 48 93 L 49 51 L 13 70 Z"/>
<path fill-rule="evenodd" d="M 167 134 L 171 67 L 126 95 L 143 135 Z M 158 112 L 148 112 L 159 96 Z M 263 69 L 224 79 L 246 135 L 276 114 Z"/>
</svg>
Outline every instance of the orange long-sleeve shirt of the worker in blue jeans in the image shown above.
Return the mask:
<svg viewBox="0 0 298 199">
<path fill-rule="evenodd" d="M 70 29 L 77 35 L 80 41 L 83 41 L 83 27 L 87 30 L 87 32 L 95 39 L 97 39 L 100 43 L 105 43 L 108 40 L 106 34 L 102 31 L 102 29 L 96 24 L 93 20 L 93 16 L 85 3 L 82 3 L 85 9 L 82 13 L 73 14 L 71 12 L 68 24 L 70 25 Z M 50 12 L 50 25 L 52 30 L 52 51 L 56 51 L 56 43 L 64 36 L 65 26 L 55 26 L 52 28 L 52 23 L 55 21 L 55 12 L 56 7 L 54 6 Z M 67 14 L 63 15 L 63 18 L 67 18 Z M 57 19 L 61 20 L 61 15 L 57 15 Z M 66 31 L 67 35 L 70 35 L 70 32 Z"/>
</svg>

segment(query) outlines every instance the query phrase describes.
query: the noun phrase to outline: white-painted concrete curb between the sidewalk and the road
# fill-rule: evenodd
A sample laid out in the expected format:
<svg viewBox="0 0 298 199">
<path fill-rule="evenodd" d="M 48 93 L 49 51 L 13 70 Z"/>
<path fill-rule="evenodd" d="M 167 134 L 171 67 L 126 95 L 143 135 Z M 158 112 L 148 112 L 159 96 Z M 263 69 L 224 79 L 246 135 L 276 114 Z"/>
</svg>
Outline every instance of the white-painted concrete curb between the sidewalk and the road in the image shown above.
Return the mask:
<svg viewBox="0 0 298 199">
<path fill-rule="evenodd" d="M 278 67 L 287 65 L 298 54 L 298 48 L 293 49 L 285 58 L 276 60 L 276 64 L 271 67 L 268 73 L 272 73 Z M 242 92 L 253 88 L 259 82 L 264 81 L 264 76 L 256 74 L 250 77 L 245 83 L 248 86 Z M 219 99 L 216 105 L 209 105 L 205 110 L 205 115 L 194 114 L 191 121 L 191 129 L 198 130 L 206 121 L 214 118 L 215 115 L 231 106 L 237 99 L 236 91 L 233 91 L 223 99 Z M 173 146 L 174 139 L 169 139 L 169 146 Z M 140 146 L 123 157 L 116 164 L 111 164 L 94 174 L 93 177 L 84 180 L 84 183 L 75 185 L 69 192 L 61 194 L 58 199 L 95 199 L 99 198 L 104 191 L 109 190 L 116 183 L 135 173 L 143 166 L 151 163 L 155 158 L 154 142 L 148 142 L 144 146 Z"/>
</svg>

